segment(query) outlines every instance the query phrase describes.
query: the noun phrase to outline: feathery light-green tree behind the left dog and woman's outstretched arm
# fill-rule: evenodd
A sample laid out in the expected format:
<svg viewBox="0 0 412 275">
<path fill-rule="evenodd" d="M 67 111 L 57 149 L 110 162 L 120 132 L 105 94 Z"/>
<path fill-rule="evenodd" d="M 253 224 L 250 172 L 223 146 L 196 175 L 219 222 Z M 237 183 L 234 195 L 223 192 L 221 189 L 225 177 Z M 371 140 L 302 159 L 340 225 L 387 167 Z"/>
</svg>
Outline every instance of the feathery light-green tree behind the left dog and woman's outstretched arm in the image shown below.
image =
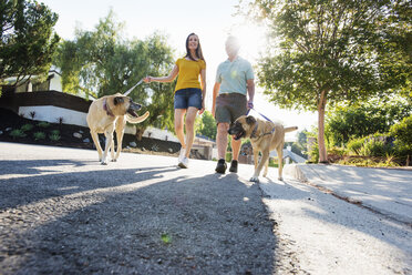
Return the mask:
<svg viewBox="0 0 412 275">
<path fill-rule="evenodd" d="M 60 44 L 54 63 L 61 68 L 65 92 L 96 98 L 124 93 L 147 74 L 164 75 L 172 70 L 173 50 L 164 35 L 128 41 L 121 35 L 122 28 L 110 11 L 94 30 L 76 30 L 73 41 Z M 137 125 L 141 131 L 147 125 L 174 129 L 173 91 L 174 83 L 143 83 L 128 94 L 151 112 Z"/>
</svg>

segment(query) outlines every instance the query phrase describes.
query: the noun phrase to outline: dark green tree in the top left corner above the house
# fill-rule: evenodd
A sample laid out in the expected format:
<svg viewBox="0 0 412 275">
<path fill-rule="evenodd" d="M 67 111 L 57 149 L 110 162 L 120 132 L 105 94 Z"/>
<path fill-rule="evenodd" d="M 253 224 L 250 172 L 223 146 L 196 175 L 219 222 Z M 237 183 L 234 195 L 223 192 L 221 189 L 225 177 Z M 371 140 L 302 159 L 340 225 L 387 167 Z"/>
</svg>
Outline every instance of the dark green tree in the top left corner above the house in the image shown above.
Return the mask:
<svg viewBox="0 0 412 275">
<path fill-rule="evenodd" d="M 43 3 L 0 2 L 0 82 L 16 77 L 18 85 L 31 75 L 45 77 L 60 40 L 53 32 L 56 21 L 58 14 Z"/>
</svg>

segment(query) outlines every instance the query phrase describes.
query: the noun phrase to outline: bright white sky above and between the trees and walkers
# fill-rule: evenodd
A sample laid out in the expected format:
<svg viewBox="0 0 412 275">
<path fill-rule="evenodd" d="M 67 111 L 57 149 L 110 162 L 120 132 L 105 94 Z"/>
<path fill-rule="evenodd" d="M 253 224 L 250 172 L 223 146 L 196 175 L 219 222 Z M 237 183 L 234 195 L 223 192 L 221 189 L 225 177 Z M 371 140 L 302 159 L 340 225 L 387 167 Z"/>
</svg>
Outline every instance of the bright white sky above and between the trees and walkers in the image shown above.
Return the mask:
<svg viewBox="0 0 412 275">
<path fill-rule="evenodd" d="M 176 50 L 176 57 L 185 52 L 185 41 L 189 33 L 198 34 L 206 59 L 207 102 L 212 110 L 212 93 L 218 64 L 227 59 L 225 40 L 229 33 L 241 42 L 239 55 L 253 65 L 265 52 L 265 31 L 236 13 L 238 0 L 39 0 L 59 14 L 55 31 L 66 40 L 74 38 L 75 27 L 93 30 L 99 20 L 109 14 L 110 8 L 115 20 L 125 24 L 125 37 L 145 39 L 154 31 L 168 37 L 168 43 Z M 255 109 L 282 122 L 286 126 L 297 125 L 299 131 L 310 130 L 317 123 L 317 114 L 280 110 L 268 102 L 256 85 Z M 289 133 L 291 139 L 297 132 Z"/>
</svg>

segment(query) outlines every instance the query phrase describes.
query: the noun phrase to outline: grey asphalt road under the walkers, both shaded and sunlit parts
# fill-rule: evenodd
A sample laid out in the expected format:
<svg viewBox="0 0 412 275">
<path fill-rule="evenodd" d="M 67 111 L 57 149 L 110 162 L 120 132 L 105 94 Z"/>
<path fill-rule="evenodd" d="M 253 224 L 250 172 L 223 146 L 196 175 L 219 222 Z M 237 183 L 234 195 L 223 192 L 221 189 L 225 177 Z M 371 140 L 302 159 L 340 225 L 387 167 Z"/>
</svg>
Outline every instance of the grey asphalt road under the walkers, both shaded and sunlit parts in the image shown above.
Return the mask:
<svg viewBox="0 0 412 275">
<path fill-rule="evenodd" d="M 257 185 L 250 165 L 222 176 L 215 162 L 174 164 L 0 143 L 0 274 L 412 273 L 406 222 L 302 183 L 296 167 Z"/>
</svg>

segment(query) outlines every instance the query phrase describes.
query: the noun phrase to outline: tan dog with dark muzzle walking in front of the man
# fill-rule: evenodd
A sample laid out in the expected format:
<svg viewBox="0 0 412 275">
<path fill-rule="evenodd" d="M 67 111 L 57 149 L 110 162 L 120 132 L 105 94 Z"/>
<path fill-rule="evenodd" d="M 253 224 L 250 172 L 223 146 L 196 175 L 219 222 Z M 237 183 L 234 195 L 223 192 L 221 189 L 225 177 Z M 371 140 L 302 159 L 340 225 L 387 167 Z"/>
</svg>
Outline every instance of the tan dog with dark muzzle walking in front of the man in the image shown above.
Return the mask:
<svg viewBox="0 0 412 275">
<path fill-rule="evenodd" d="M 251 182 L 259 182 L 259 174 L 265 164 L 264 176 L 268 173 L 269 153 L 276 150 L 278 153 L 279 181 L 282 181 L 282 159 L 285 133 L 298 130 L 297 126 L 284 128 L 280 123 L 262 121 L 251 115 L 241 115 L 230 125 L 228 133 L 234 135 L 235 140 L 249 138 L 254 149 L 255 173 L 250 177 Z M 259 152 L 261 159 L 258 163 Z"/>
</svg>

